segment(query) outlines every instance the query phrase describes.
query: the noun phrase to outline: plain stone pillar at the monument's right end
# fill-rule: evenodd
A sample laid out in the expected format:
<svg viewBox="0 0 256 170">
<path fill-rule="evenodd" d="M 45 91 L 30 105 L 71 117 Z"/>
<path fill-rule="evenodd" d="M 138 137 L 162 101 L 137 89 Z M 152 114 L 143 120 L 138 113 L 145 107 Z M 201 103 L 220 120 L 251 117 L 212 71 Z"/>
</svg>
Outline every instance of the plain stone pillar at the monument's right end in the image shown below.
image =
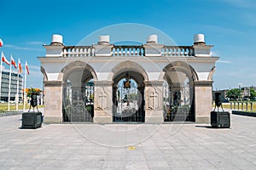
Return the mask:
<svg viewBox="0 0 256 170">
<path fill-rule="evenodd" d="M 212 81 L 196 81 L 195 122 L 210 122 L 212 111 Z"/>
</svg>

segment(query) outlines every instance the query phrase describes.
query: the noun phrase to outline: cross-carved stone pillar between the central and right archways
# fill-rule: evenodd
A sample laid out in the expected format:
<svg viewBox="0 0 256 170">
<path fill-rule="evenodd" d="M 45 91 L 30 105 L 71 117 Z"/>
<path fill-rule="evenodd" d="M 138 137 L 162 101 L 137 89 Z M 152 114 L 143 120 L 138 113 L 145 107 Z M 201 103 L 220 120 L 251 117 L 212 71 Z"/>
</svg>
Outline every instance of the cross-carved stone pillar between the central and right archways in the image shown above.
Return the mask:
<svg viewBox="0 0 256 170">
<path fill-rule="evenodd" d="M 164 122 L 163 82 L 145 81 L 145 122 Z"/>
</svg>

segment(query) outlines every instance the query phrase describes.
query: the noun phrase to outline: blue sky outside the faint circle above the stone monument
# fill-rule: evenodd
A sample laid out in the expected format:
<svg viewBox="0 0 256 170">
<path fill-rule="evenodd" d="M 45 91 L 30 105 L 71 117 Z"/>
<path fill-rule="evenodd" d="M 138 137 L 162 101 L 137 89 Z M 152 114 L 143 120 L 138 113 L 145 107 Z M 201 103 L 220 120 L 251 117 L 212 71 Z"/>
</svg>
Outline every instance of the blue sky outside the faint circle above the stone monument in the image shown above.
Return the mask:
<svg viewBox="0 0 256 170">
<path fill-rule="evenodd" d="M 31 75 L 27 87 L 42 88 L 38 56 L 51 35 L 75 45 L 92 31 L 121 23 L 139 23 L 165 32 L 178 45 L 192 45 L 203 33 L 220 56 L 213 88 L 256 86 L 256 3 L 254 0 L 163 1 L 1 1 L 0 38 L 5 56 L 13 54 Z M 97 40 L 95 41 L 95 43 Z M 8 68 L 8 67 L 7 67 Z"/>
</svg>

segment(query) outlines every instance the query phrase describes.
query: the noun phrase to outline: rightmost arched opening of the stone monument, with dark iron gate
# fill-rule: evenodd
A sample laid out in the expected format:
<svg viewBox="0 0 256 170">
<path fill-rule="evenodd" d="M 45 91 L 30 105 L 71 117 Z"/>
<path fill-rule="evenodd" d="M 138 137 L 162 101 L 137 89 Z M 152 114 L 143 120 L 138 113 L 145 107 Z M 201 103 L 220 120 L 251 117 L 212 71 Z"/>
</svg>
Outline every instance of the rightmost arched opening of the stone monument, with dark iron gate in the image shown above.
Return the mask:
<svg viewBox="0 0 256 170">
<path fill-rule="evenodd" d="M 174 62 L 164 69 L 165 122 L 195 122 L 195 71 L 183 62 Z"/>
</svg>

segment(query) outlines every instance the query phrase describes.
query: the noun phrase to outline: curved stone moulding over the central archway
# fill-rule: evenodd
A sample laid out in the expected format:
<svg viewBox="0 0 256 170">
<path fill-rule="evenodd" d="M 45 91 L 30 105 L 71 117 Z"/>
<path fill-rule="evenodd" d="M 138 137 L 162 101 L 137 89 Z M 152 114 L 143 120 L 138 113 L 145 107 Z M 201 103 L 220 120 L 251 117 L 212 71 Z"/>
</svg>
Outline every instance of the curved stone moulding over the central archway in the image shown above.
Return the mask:
<svg viewBox="0 0 256 170">
<path fill-rule="evenodd" d="M 117 77 L 119 73 L 125 72 L 125 71 L 134 71 L 138 72 L 143 76 L 144 81 L 148 81 L 148 74 L 144 70 L 143 66 L 132 62 L 131 60 L 126 60 L 122 63 L 119 63 L 119 65 L 115 65 L 112 69 L 112 72 L 108 75 L 108 80 L 113 80 L 114 77 Z"/>
</svg>

